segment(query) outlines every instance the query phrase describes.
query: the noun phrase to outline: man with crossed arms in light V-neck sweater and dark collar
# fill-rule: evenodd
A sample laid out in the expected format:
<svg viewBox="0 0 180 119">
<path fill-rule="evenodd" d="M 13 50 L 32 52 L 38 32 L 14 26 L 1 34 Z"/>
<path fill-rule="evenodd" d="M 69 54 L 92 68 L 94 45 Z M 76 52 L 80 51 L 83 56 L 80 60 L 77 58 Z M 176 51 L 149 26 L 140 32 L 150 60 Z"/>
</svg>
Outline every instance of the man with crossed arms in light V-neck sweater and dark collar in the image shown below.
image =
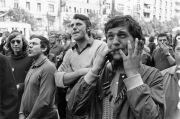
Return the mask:
<svg viewBox="0 0 180 119">
<path fill-rule="evenodd" d="M 68 87 L 66 101 L 73 85 L 92 67 L 96 55 L 107 48 L 103 41 L 91 38 L 90 26 L 89 18 L 81 14 L 75 14 L 70 24 L 71 36 L 76 43 L 66 52 L 58 72 L 55 73 L 56 85 Z M 79 118 L 71 116 L 69 111 L 67 111 L 67 116 L 68 119 Z"/>
</svg>

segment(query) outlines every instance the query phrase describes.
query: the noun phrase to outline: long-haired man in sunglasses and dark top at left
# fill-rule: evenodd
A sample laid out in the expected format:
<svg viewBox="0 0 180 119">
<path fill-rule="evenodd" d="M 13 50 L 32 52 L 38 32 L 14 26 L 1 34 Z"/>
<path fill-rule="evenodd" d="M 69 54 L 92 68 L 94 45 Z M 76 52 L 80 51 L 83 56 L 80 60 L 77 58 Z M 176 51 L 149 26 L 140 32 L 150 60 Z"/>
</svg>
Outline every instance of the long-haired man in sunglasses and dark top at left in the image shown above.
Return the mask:
<svg viewBox="0 0 180 119">
<path fill-rule="evenodd" d="M 27 41 L 24 36 L 16 31 L 12 32 L 7 39 L 7 48 L 10 56 L 8 60 L 15 77 L 16 87 L 18 89 L 18 109 L 21 104 L 21 97 L 24 91 L 24 79 L 32 64 L 32 58 L 27 55 Z"/>
</svg>

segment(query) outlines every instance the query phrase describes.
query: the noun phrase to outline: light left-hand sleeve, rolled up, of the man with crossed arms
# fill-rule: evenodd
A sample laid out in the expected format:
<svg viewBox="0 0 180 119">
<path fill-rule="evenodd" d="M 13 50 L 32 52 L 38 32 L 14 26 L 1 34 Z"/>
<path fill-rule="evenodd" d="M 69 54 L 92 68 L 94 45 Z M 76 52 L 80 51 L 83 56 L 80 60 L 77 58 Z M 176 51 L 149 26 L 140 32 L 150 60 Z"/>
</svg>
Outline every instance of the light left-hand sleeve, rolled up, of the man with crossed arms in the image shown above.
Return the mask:
<svg viewBox="0 0 180 119">
<path fill-rule="evenodd" d="M 70 66 L 70 57 L 72 55 L 72 49 L 68 50 L 63 58 L 63 62 L 58 68 L 58 71 L 55 72 L 55 83 L 57 87 L 65 88 L 63 83 L 63 77 L 66 72 L 72 72 L 72 68 Z"/>
</svg>

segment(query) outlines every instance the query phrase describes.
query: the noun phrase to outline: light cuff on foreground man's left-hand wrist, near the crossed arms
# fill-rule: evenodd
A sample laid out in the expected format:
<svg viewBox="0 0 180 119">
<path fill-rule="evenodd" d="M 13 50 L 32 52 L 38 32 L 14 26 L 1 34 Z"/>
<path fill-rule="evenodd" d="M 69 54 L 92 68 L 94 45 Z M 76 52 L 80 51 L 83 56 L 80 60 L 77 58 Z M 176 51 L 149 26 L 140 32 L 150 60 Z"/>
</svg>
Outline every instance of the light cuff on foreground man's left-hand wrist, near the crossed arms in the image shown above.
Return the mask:
<svg viewBox="0 0 180 119">
<path fill-rule="evenodd" d="M 96 75 L 92 72 L 92 70 L 90 70 L 85 76 L 84 76 L 84 80 L 87 84 L 89 85 L 96 85 L 96 83 L 94 82 L 94 80 L 96 78 L 99 78 L 99 75 Z"/>
</svg>

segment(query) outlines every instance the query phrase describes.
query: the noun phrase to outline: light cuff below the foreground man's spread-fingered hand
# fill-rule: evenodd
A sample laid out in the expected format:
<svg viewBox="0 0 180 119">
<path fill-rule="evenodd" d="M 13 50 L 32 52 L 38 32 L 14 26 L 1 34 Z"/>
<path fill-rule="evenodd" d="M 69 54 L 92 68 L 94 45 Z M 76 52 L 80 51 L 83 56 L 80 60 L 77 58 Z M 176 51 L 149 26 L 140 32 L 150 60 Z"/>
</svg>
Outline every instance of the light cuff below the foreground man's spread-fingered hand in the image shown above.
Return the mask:
<svg viewBox="0 0 180 119">
<path fill-rule="evenodd" d="M 143 85 L 144 83 L 141 78 L 141 75 L 137 74 L 137 75 L 124 79 L 124 84 L 126 85 L 127 91 L 129 91 L 140 85 Z"/>
</svg>

